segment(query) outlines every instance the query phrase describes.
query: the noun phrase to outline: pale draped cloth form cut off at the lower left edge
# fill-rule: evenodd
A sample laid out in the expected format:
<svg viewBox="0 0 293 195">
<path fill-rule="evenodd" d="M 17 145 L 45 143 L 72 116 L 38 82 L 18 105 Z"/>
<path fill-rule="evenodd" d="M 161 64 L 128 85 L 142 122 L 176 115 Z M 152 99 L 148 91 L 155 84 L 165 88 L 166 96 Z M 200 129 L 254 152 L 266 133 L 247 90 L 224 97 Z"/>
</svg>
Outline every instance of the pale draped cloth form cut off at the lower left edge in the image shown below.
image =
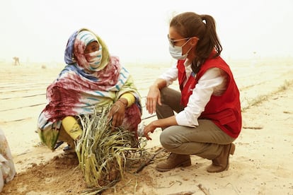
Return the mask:
<svg viewBox="0 0 293 195">
<path fill-rule="evenodd" d="M 6 137 L 0 129 L 0 193 L 4 184 L 11 181 L 16 175 L 16 169 L 12 160 L 10 148 Z"/>
</svg>

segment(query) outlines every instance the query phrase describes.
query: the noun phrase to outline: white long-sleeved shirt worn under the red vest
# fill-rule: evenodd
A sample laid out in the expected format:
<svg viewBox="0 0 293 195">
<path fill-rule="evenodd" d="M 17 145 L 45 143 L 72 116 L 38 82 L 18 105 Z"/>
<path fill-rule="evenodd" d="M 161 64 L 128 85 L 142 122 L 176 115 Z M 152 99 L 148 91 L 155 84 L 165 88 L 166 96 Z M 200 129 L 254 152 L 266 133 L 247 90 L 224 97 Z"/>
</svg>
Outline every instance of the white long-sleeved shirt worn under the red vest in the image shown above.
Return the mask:
<svg viewBox="0 0 293 195">
<path fill-rule="evenodd" d="M 191 64 L 185 61 L 186 81 L 192 73 Z M 178 78 L 177 62 L 159 78 L 166 81 L 167 86 Z M 185 82 L 186 82 L 185 81 Z M 219 68 L 208 69 L 200 78 L 190 95 L 188 105 L 176 115 L 176 122 L 182 126 L 198 126 L 197 118 L 205 110 L 212 95 L 221 95 L 226 90 L 226 73 Z"/>
</svg>

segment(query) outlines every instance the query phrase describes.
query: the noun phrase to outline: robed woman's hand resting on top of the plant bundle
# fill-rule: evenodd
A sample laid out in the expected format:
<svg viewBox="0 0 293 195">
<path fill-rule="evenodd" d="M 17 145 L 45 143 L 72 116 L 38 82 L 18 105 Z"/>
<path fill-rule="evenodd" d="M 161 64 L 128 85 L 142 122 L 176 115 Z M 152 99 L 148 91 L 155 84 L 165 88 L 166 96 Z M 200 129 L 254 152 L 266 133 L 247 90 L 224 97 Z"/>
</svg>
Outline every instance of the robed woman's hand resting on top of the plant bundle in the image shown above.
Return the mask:
<svg viewBox="0 0 293 195">
<path fill-rule="evenodd" d="M 125 109 L 125 105 L 120 101 L 117 101 L 112 105 L 108 115 L 108 119 L 112 119 L 113 129 L 114 127 L 118 127 L 122 124 L 125 117 Z"/>
</svg>

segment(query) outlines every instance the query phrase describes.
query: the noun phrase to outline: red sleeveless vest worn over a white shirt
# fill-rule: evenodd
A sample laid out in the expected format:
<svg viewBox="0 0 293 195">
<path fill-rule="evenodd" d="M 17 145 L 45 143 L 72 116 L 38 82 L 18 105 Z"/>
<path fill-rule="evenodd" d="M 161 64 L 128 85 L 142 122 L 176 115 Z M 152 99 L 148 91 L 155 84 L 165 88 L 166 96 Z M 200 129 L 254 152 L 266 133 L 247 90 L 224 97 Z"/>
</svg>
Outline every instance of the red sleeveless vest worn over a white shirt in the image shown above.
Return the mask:
<svg viewBox="0 0 293 195">
<path fill-rule="evenodd" d="M 217 67 L 225 71 L 229 78 L 226 91 L 221 96 L 212 95 L 209 102 L 205 107 L 205 111 L 200 114 L 198 119 L 210 119 L 214 124 L 219 126 L 222 131 L 231 136 L 237 138 L 241 131 L 242 119 L 241 119 L 241 105 L 239 99 L 239 89 L 234 81 L 234 77 L 226 62 L 221 58 L 207 59 L 200 71 L 195 75 L 192 73 L 188 78 L 187 83 L 183 86 L 186 78 L 184 60 L 178 60 L 178 81 L 181 90 L 181 104 L 186 106 L 188 99 L 193 93 L 193 89 L 202 75 L 213 67 Z"/>
</svg>

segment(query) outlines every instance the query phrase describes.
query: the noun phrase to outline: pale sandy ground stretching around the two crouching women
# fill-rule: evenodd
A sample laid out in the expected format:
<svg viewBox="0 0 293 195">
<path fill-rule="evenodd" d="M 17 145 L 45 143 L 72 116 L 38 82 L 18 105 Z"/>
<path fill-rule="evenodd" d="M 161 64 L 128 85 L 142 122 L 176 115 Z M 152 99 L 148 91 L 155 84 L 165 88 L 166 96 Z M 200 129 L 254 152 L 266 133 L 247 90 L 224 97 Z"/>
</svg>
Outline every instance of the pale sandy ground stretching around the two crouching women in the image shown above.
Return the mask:
<svg viewBox="0 0 293 195">
<path fill-rule="evenodd" d="M 243 107 L 243 129 L 229 170 L 208 173 L 209 160 L 192 156 L 190 167 L 157 172 L 154 167 L 166 154 L 161 153 L 142 172 L 125 172 L 125 178 L 103 194 L 293 194 L 293 60 L 230 60 L 229 64 Z M 62 155 L 65 145 L 54 152 L 40 145 L 34 132 L 45 107 L 45 89 L 63 65 L 0 66 L 0 128 L 18 172 L 1 194 L 81 194 L 86 184 L 77 160 Z M 145 97 L 169 64 L 125 66 Z M 147 117 L 144 111 L 146 124 L 154 119 Z M 157 129 L 147 142 L 153 153 L 160 148 L 160 132 Z"/>
</svg>

